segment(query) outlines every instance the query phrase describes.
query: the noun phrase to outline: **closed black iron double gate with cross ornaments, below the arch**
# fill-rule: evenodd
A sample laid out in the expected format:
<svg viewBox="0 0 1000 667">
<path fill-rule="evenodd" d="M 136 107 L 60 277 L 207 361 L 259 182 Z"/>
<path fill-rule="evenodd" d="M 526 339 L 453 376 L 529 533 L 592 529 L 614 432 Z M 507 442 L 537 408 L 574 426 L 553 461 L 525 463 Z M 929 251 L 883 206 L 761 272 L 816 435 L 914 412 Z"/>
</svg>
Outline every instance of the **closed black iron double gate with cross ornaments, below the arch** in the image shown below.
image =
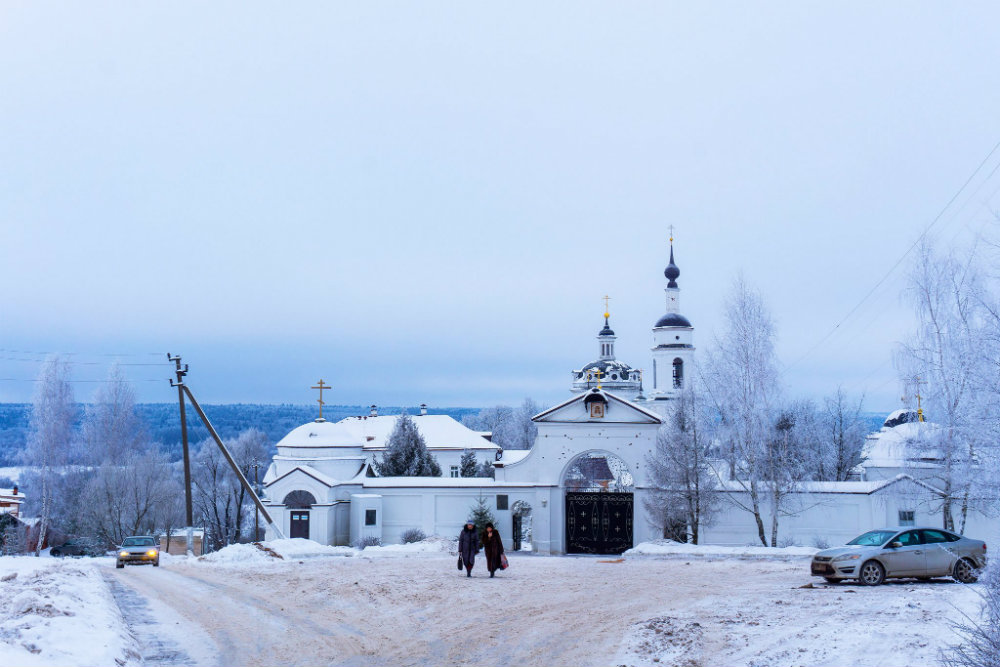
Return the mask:
<svg viewBox="0 0 1000 667">
<path fill-rule="evenodd" d="M 566 494 L 566 553 L 620 554 L 631 548 L 631 493 Z"/>
</svg>

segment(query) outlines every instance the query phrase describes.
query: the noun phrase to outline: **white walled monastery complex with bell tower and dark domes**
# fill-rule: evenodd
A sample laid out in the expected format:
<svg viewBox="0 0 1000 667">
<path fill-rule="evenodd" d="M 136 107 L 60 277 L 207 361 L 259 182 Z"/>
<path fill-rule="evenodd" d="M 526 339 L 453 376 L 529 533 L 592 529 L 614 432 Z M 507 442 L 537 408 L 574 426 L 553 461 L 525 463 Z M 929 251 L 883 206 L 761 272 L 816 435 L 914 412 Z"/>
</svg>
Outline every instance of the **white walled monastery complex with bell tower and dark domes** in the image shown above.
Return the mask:
<svg viewBox="0 0 1000 667">
<path fill-rule="evenodd" d="M 671 399 L 685 387 L 692 368 L 694 327 L 680 314 L 680 270 L 673 239 L 666 310 L 652 328 L 648 396 L 638 370 L 615 358 L 616 336 L 604 313 L 597 336 L 598 358 L 573 371 L 573 397 L 535 415 L 537 438 L 530 450 L 501 451 L 482 434 L 445 415 L 414 415 L 440 477 L 378 477 L 380 455 L 398 416 L 372 414 L 339 422 L 320 418 L 277 444 L 264 478 L 266 498 L 285 536 L 322 544 L 353 544 L 379 538 L 401 541 L 409 529 L 457 535 L 473 506 L 483 499 L 497 518 L 509 549 L 544 554 L 615 554 L 662 537 L 644 509 L 653 493 L 645 462 Z M 607 309 L 605 309 L 607 311 Z M 877 527 L 940 525 L 940 492 L 908 454 L 913 432 L 930 426 L 894 414 L 866 444 L 867 462 L 848 482 L 809 482 L 796 487 L 780 509 L 780 535 L 795 544 L 835 544 Z M 494 462 L 495 479 L 461 477 L 466 451 Z M 720 472 L 720 477 L 723 474 Z M 759 544 L 748 493 L 740 480 L 722 479 L 723 502 L 701 530 L 707 544 Z M 769 524 L 769 509 L 762 508 Z M 967 532 L 992 536 L 996 521 L 970 516 Z M 268 538 L 276 535 L 268 534 Z M 530 547 L 529 547 L 530 545 Z"/>
</svg>

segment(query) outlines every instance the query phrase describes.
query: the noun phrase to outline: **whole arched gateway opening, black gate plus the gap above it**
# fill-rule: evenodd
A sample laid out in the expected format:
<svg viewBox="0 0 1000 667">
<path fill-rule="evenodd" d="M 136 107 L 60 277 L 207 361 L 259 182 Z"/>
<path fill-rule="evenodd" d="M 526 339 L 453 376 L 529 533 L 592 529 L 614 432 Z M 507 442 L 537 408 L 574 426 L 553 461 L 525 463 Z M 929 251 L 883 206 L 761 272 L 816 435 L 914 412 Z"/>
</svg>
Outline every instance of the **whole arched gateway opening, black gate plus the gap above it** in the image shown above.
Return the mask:
<svg viewBox="0 0 1000 667">
<path fill-rule="evenodd" d="M 606 451 L 577 456 L 566 467 L 566 553 L 620 554 L 632 548 L 634 480 Z"/>
</svg>

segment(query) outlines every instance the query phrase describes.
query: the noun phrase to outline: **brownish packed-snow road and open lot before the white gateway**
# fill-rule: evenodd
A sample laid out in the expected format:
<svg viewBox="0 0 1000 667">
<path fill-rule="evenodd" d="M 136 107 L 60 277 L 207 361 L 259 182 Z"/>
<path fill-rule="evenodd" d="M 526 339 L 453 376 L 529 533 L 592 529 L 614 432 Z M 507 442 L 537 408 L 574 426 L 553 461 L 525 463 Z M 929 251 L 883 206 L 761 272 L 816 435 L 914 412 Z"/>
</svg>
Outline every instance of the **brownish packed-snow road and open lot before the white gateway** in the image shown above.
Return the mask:
<svg viewBox="0 0 1000 667">
<path fill-rule="evenodd" d="M 246 665 L 936 664 L 945 619 L 975 608 L 945 581 L 820 585 L 805 559 L 615 561 L 515 555 L 496 579 L 450 556 L 116 575 L 191 629 L 197 664 L 209 646 Z"/>
</svg>

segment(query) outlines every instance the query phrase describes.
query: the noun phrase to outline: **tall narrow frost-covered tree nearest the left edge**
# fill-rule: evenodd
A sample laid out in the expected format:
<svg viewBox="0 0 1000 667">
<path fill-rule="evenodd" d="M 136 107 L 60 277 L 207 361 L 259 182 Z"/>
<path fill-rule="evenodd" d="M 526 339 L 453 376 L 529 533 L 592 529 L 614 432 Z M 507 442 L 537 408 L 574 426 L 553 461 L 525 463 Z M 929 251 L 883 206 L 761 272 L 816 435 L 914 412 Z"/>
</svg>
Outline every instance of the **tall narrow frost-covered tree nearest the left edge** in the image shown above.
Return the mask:
<svg viewBox="0 0 1000 667">
<path fill-rule="evenodd" d="M 30 431 L 21 453 L 21 461 L 34 468 L 37 481 L 34 487 L 39 500 L 36 556 L 49 532 L 59 469 L 66 463 L 73 446 L 75 418 L 76 403 L 69 383 L 69 366 L 58 356 L 49 357 L 38 376 Z"/>
</svg>

